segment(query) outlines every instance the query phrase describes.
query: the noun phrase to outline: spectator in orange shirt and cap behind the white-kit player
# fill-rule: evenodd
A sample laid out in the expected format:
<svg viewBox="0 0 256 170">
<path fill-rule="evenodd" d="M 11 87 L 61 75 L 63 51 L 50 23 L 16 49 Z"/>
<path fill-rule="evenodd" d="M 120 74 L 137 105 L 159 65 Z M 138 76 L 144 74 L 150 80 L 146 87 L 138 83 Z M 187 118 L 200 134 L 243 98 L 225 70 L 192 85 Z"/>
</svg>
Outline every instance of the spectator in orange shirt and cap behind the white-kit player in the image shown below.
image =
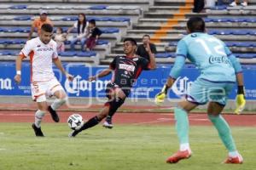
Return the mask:
<svg viewBox="0 0 256 170">
<path fill-rule="evenodd" d="M 28 34 L 28 39 L 30 40 L 32 38 L 32 34 L 35 31 L 35 29 L 36 29 L 36 31 L 38 31 L 38 35 L 39 35 L 40 31 L 41 31 L 41 26 L 43 26 L 44 24 L 49 24 L 49 25 L 53 26 L 51 20 L 49 20 L 49 18 L 47 17 L 46 10 L 40 11 L 39 18 L 35 19 L 32 22 L 32 26 L 31 26 L 30 32 Z"/>
</svg>

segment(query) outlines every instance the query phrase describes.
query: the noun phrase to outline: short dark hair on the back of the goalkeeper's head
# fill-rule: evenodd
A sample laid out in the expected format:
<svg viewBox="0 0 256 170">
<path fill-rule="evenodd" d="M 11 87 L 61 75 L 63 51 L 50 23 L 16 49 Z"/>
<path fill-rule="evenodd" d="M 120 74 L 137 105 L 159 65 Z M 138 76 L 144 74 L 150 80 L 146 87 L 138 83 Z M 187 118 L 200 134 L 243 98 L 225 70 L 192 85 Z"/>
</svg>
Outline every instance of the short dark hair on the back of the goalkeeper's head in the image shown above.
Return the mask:
<svg viewBox="0 0 256 170">
<path fill-rule="evenodd" d="M 204 32 L 206 29 L 205 21 L 201 17 L 191 17 L 187 22 L 190 32 Z"/>
</svg>

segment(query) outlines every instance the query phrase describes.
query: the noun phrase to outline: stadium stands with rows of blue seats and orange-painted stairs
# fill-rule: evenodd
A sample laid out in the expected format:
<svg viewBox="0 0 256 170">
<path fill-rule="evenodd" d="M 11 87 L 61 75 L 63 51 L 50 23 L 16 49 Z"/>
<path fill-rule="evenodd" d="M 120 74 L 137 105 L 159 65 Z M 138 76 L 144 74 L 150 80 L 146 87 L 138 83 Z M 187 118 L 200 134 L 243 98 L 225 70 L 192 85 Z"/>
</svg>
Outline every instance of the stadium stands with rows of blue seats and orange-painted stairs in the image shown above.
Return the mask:
<svg viewBox="0 0 256 170">
<path fill-rule="evenodd" d="M 75 46 L 76 51 L 69 51 L 70 42 L 65 42 L 67 51 L 60 55 L 63 59 L 71 59 L 71 61 L 72 58 L 76 58 L 75 62 L 79 59 L 98 56 L 101 64 L 108 64 L 113 56 L 123 54 L 122 38 L 134 37 L 140 43 L 144 34 L 149 34 L 152 40 L 155 40 L 155 32 L 166 34 L 165 37 L 160 38 L 160 42 L 155 42 L 158 51 L 157 62 L 173 62 L 177 41 L 186 34 L 184 30 L 186 21 L 189 16 L 195 15 L 204 17 L 208 33 L 226 42 L 241 61 L 245 59 L 247 62 L 248 59 L 255 58 L 256 14 L 253 12 L 255 11 L 253 5 L 256 1 L 254 0 L 245 8 L 216 6 L 207 8 L 206 12 L 201 14 L 193 14 L 191 12 L 193 2 L 186 0 L 86 0 L 83 2 L 69 0 L 65 4 L 53 0 L 47 5 L 32 3 L 28 0 L 21 2 L 5 0 L 5 2 L 9 3 L 0 6 L 1 56 L 17 54 L 26 42 L 32 20 L 38 17 L 35 14 L 38 14 L 41 9 L 46 9 L 55 27 L 61 26 L 64 31 L 73 26 L 80 12 L 86 14 L 87 20 L 96 20 L 96 25 L 102 29 L 102 37 L 92 54 L 79 53 L 79 42 Z M 44 0 L 37 0 L 37 2 L 43 3 Z M 172 26 L 168 26 L 170 23 Z M 76 31 L 74 29 L 72 35 L 76 34 Z"/>
</svg>

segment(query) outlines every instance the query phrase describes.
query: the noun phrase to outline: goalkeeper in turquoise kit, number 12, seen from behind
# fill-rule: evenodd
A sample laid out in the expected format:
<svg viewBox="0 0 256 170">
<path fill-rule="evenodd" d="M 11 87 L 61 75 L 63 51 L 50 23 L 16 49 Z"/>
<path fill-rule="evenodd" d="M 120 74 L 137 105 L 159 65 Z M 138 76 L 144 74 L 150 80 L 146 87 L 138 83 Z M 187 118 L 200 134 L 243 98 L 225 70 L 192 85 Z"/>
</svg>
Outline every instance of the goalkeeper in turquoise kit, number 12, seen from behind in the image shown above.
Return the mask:
<svg viewBox="0 0 256 170">
<path fill-rule="evenodd" d="M 236 56 L 230 52 L 224 42 L 205 32 L 205 22 L 200 17 L 192 17 L 187 22 L 188 35 L 177 43 L 176 60 L 169 78 L 162 91 L 155 96 L 157 105 L 162 105 L 168 88 L 172 88 L 189 59 L 201 74 L 189 89 L 186 99 L 180 101 L 174 110 L 177 137 L 180 148 L 166 162 L 176 163 L 192 155 L 189 146 L 189 119 L 188 113 L 197 105 L 208 103 L 207 115 L 225 148 L 229 151 L 224 163 L 242 163 L 242 157 L 236 150 L 236 144 L 230 132 L 228 123 L 220 115 L 226 105 L 230 91 L 237 83 L 236 113 L 243 110 L 244 98 L 243 75 L 241 65 Z"/>
</svg>

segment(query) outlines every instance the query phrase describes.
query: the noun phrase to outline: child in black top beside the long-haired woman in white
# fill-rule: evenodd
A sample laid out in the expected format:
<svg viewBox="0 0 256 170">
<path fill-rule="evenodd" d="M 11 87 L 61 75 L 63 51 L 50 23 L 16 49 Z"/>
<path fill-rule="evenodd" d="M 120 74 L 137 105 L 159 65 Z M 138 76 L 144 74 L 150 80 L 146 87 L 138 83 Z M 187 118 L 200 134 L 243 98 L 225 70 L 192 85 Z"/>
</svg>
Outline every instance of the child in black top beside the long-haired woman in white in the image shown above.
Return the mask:
<svg viewBox="0 0 256 170">
<path fill-rule="evenodd" d="M 86 41 L 86 50 L 90 51 L 92 48 L 95 48 L 96 42 L 98 38 L 102 35 L 102 31 L 96 27 L 96 21 L 90 20 L 89 21 L 89 34 L 88 40 Z"/>
</svg>

